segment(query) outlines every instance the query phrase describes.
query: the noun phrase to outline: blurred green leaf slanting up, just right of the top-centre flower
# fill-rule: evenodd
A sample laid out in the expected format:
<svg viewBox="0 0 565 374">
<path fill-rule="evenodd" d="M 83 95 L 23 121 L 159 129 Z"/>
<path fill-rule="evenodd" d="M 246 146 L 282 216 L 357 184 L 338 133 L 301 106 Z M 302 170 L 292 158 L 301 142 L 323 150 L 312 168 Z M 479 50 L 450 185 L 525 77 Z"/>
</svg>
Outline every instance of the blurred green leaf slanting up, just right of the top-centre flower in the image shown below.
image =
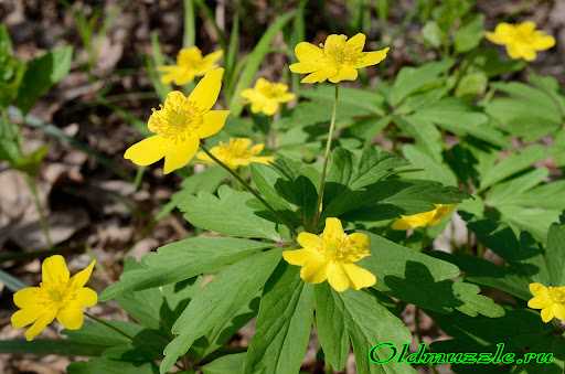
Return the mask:
<svg viewBox="0 0 565 374">
<path fill-rule="evenodd" d="M 419 67 L 403 67 L 391 89 L 388 101 L 393 106 L 401 104 L 407 96 L 434 84 L 438 84 L 438 77 L 446 73 L 454 62 L 444 60 L 422 65 Z"/>
</svg>

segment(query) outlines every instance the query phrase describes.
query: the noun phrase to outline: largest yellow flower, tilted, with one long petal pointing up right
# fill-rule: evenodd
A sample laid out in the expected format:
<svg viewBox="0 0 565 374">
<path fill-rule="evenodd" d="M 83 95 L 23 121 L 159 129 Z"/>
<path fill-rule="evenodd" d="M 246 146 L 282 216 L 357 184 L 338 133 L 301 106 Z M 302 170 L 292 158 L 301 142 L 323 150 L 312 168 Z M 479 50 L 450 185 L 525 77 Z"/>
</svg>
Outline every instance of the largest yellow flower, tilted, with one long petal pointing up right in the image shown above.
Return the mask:
<svg viewBox="0 0 565 374">
<path fill-rule="evenodd" d="M 164 105 L 153 109 L 148 128 L 156 133 L 129 147 L 124 158 L 145 167 L 164 157 L 164 173 L 186 165 L 196 153 L 200 139 L 218 132 L 230 110 L 211 110 L 222 87 L 223 68 L 213 70 L 199 82 L 189 97 L 173 90 Z"/>
</svg>

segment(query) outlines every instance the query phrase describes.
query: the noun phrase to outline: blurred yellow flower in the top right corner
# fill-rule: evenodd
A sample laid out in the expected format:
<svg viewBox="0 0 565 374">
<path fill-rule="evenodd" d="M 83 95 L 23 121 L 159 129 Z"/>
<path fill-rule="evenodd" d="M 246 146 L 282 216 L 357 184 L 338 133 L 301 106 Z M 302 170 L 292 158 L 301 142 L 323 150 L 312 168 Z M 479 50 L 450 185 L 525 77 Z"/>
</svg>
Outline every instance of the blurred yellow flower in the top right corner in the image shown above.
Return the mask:
<svg viewBox="0 0 565 374">
<path fill-rule="evenodd" d="M 555 45 L 555 39 L 535 30 L 535 23 L 531 21 L 518 24 L 499 23 L 494 32 L 487 32 L 487 39 L 494 44 L 505 45 L 510 57 L 525 61 L 534 61 L 536 51 L 545 51 Z"/>
</svg>

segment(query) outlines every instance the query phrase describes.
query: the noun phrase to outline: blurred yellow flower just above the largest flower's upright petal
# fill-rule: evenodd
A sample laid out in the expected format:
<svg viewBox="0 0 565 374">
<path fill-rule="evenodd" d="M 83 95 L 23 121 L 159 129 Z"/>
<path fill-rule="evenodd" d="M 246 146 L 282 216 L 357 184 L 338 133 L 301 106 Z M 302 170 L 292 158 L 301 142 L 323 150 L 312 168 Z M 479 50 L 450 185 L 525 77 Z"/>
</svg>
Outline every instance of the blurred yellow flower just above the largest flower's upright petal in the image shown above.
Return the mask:
<svg viewBox="0 0 565 374">
<path fill-rule="evenodd" d="M 198 46 L 191 46 L 179 52 L 177 65 L 158 66 L 157 68 L 162 73 L 162 83 L 170 84 L 172 82 L 182 86 L 192 82 L 195 76 L 202 76 L 216 68 L 216 62 L 222 58 L 222 54 L 223 52 L 220 50 L 202 56 Z"/>
</svg>

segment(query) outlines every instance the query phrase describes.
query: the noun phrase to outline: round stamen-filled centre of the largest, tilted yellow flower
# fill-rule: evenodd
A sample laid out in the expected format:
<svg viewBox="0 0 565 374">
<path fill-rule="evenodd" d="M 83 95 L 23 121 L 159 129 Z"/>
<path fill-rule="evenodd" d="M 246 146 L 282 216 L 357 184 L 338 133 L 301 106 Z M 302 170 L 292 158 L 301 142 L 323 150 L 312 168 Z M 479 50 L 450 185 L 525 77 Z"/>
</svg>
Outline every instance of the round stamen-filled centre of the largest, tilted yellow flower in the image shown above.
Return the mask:
<svg viewBox="0 0 565 374">
<path fill-rule="evenodd" d="M 153 109 L 149 130 L 174 142 L 184 141 L 203 124 L 203 114 L 204 110 L 189 100 L 161 106 L 159 110 Z"/>
</svg>

